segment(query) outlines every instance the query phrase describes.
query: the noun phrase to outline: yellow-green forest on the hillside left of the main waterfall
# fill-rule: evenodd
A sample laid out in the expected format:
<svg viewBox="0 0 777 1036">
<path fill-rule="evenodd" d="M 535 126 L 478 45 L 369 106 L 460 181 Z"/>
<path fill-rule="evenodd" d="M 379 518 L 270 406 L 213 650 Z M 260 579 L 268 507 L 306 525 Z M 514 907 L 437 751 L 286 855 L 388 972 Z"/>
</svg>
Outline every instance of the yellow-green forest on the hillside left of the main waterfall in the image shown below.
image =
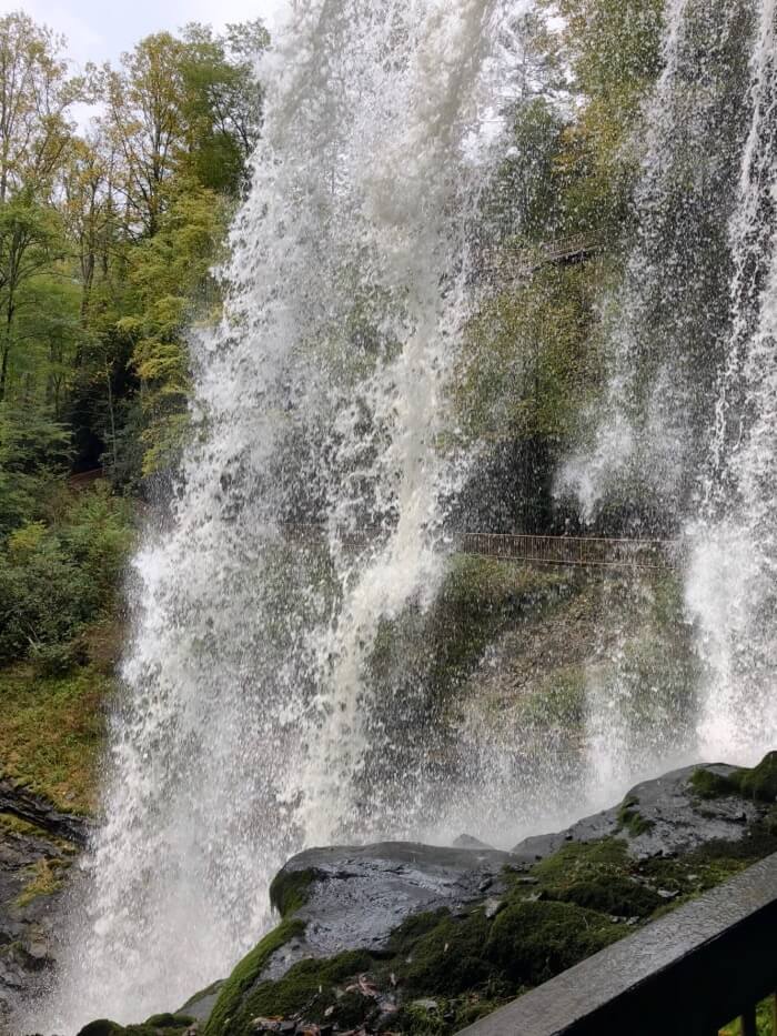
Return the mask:
<svg viewBox="0 0 777 1036">
<path fill-rule="evenodd" d="M 0 664 L 67 671 L 114 611 L 185 433 L 186 334 L 218 319 L 266 44 L 191 24 L 73 77 L 63 39 L 0 20 Z"/>
</svg>

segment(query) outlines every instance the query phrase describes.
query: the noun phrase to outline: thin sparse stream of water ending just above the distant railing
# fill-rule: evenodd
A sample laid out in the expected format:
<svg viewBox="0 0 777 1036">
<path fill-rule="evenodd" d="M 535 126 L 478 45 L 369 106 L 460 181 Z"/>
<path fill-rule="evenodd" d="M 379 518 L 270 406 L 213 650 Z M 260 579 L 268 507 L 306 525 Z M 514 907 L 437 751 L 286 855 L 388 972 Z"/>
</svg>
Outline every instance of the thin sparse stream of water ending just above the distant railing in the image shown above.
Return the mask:
<svg viewBox="0 0 777 1036">
<path fill-rule="evenodd" d="M 662 72 L 630 141 L 639 177 L 627 262 L 603 308 L 607 394 L 558 487 L 576 493 L 589 521 L 620 509 L 637 535 L 676 532 L 712 435 L 751 17 L 750 0 L 668 0 Z"/>
</svg>

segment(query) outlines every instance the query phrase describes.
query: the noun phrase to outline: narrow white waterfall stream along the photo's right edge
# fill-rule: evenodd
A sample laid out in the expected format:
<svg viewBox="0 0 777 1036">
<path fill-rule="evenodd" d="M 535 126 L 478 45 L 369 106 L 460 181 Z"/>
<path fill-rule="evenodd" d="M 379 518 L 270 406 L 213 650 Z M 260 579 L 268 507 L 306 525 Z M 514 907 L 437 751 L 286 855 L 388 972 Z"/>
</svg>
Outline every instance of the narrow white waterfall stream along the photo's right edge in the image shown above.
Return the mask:
<svg viewBox="0 0 777 1036">
<path fill-rule="evenodd" d="M 761 0 L 749 131 L 729 223 L 731 322 L 700 514 L 689 522 L 687 602 L 699 630 L 709 756 L 753 763 L 777 738 L 777 4 Z"/>
</svg>

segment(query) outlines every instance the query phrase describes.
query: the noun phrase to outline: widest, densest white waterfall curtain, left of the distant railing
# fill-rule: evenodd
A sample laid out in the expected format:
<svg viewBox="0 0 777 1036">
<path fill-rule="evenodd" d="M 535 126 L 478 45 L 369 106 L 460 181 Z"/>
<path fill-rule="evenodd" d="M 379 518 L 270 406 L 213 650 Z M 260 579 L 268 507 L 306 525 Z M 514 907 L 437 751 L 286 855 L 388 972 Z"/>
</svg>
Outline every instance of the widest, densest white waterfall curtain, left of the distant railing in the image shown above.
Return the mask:
<svg viewBox="0 0 777 1036">
<path fill-rule="evenodd" d="M 266 59 L 225 315 L 192 333 L 194 441 L 134 562 L 104 818 L 47 1032 L 178 1007 L 266 931 L 293 852 L 420 829 L 425 734 L 414 772 L 375 771 L 406 746 L 371 721 L 364 671 L 381 621 L 441 577 L 509 7 L 299 3 Z"/>
</svg>

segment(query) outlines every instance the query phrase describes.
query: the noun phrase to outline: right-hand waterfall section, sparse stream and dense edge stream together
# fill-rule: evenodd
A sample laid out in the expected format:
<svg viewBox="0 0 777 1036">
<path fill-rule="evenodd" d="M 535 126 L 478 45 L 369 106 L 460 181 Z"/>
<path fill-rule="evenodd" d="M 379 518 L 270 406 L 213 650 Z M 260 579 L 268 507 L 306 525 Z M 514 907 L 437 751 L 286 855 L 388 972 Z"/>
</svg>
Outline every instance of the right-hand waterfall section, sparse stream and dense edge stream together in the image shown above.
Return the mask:
<svg viewBox="0 0 777 1036">
<path fill-rule="evenodd" d="M 748 763 L 777 736 L 776 19 L 774 0 L 667 4 L 636 241 L 604 306 L 605 404 L 558 475 L 589 521 L 637 502 L 636 532 L 682 541 L 693 731 L 672 714 L 640 730 L 620 747 L 630 774 L 633 752 Z M 592 736 L 623 741 L 634 694 L 592 696 Z"/>
</svg>

